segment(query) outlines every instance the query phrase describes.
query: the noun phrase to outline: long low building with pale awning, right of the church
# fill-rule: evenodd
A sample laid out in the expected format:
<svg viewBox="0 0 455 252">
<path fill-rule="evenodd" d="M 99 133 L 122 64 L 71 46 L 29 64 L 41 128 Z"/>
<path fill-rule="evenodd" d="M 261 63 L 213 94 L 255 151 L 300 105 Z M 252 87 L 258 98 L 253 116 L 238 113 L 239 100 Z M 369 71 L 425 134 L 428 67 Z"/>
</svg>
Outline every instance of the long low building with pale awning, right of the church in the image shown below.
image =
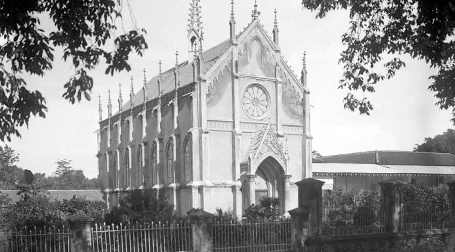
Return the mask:
<svg viewBox="0 0 455 252">
<path fill-rule="evenodd" d="M 408 183 L 438 185 L 455 179 L 455 156 L 448 153 L 367 151 L 313 160 L 313 178 L 324 189 L 380 190 L 378 182 L 398 178 Z"/>
</svg>

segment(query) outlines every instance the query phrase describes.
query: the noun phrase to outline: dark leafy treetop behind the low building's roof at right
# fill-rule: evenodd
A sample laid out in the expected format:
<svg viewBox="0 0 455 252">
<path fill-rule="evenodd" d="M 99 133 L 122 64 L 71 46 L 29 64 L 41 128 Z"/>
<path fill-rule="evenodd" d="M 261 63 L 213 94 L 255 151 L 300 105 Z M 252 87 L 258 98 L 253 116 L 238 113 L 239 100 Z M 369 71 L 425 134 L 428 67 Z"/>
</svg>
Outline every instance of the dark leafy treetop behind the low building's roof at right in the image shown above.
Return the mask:
<svg viewBox="0 0 455 252">
<path fill-rule="evenodd" d="M 434 138 L 425 138 L 425 142 L 414 147 L 417 152 L 440 152 L 455 155 L 455 130 L 447 129 Z"/>
</svg>

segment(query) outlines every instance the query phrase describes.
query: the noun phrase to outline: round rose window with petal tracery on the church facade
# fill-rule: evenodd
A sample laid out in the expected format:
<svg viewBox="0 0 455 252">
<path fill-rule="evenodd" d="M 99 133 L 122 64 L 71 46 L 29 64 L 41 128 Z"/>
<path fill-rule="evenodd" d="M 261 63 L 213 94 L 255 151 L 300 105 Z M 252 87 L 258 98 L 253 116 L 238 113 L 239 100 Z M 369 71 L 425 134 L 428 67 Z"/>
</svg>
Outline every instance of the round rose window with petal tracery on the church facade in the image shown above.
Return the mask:
<svg viewBox="0 0 455 252">
<path fill-rule="evenodd" d="M 251 118 L 264 118 L 269 107 L 268 94 L 262 87 L 251 85 L 245 89 L 242 103 L 243 109 Z"/>
</svg>

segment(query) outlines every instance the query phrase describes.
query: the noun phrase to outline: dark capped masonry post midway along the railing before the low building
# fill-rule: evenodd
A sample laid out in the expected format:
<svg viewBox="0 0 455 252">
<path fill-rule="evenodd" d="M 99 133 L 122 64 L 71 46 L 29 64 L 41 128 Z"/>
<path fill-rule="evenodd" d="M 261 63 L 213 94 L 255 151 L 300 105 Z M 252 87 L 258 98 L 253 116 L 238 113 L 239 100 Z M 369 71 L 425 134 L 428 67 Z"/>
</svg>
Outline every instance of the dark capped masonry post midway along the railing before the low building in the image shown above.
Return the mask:
<svg viewBox="0 0 455 252">
<path fill-rule="evenodd" d="M 392 233 L 399 232 L 404 224 L 402 188 L 405 184 L 406 182 L 400 179 L 388 179 L 379 182 L 385 201 L 385 225 L 387 230 Z"/>
</svg>

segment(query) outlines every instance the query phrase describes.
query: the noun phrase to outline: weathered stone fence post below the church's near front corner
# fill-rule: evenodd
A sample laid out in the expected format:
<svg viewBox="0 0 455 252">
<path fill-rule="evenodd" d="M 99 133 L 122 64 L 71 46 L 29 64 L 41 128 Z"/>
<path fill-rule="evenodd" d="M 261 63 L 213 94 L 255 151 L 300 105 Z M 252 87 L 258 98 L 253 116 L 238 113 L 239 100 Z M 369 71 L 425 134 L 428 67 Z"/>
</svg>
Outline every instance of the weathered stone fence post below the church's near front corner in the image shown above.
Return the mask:
<svg viewBox="0 0 455 252">
<path fill-rule="evenodd" d="M 197 209 L 190 210 L 188 216 L 193 229 L 193 251 L 211 252 L 213 247 L 213 214 Z"/>
</svg>

